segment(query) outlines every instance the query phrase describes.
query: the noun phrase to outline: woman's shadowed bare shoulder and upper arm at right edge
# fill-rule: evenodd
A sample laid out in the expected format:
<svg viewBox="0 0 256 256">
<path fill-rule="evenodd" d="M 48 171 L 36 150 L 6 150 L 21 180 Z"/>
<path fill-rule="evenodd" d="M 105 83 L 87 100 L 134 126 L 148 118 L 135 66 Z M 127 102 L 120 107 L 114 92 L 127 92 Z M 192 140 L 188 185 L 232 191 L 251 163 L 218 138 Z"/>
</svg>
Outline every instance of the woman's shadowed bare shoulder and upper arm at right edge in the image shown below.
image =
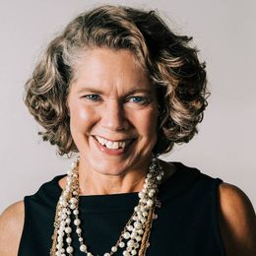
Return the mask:
<svg viewBox="0 0 256 256">
<path fill-rule="evenodd" d="M 220 224 L 226 255 L 256 255 L 256 217 L 249 198 L 238 187 L 222 183 Z"/>
</svg>

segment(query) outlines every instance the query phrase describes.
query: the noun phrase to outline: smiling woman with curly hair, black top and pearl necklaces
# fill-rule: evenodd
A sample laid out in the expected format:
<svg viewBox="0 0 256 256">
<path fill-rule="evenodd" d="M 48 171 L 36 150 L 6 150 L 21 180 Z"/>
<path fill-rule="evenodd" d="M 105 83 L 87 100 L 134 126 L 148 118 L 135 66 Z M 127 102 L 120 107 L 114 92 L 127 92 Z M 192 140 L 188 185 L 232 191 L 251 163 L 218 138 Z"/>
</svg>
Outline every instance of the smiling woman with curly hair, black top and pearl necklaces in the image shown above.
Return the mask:
<svg viewBox="0 0 256 256">
<path fill-rule="evenodd" d="M 1 255 L 256 255 L 244 193 L 178 162 L 203 118 L 206 73 L 160 17 L 101 6 L 53 39 L 25 102 L 67 175 L 1 216 Z"/>
</svg>

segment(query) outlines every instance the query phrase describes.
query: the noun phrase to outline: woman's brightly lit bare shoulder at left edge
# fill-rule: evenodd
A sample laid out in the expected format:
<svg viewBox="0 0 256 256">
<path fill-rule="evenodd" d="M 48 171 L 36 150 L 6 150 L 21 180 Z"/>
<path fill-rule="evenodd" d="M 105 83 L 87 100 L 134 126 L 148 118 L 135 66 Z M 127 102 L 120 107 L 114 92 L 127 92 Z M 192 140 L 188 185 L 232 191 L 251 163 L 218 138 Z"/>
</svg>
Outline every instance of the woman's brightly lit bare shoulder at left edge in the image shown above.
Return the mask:
<svg viewBox="0 0 256 256">
<path fill-rule="evenodd" d="M 0 216 L 0 255 L 18 254 L 25 219 L 24 201 L 9 206 Z"/>
</svg>

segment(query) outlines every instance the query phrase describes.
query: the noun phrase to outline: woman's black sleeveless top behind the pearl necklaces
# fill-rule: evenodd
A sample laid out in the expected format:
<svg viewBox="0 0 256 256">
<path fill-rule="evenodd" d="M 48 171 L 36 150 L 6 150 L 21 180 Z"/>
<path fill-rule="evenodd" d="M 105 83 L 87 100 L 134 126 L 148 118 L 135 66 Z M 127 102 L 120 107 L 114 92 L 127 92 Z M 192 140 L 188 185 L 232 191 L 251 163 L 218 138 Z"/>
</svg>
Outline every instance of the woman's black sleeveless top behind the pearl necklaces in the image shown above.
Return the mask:
<svg viewBox="0 0 256 256">
<path fill-rule="evenodd" d="M 173 162 L 174 174 L 160 186 L 158 219 L 154 220 L 147 256 L 219 256 L 224 244 L 218 221 L 219 178 Z M 49 255 L 55 208 L 61 194 L 56 176 L 32 196 L 25 197 L 25 224 L 19 256 Z M 80 197 L 83 237 L 94 255 L 115 245 L 138 204 L 138 193 Z M 74 234 L 74 256 L 78 249 Z M 66 254 L 67 255 L 67 254 Z M 121 252 L 114 255 L 122 255 Z"/>
</svg>

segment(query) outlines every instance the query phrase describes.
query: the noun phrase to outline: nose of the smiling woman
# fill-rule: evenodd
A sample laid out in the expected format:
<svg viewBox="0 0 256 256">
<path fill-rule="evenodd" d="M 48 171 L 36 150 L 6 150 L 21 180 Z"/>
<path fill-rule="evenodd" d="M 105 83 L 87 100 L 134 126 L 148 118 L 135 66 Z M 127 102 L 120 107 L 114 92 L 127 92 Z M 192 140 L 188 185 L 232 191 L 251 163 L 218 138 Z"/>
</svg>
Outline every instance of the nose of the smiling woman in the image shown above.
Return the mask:
<svg viewBox="0 0 256 256">
<path fill-rule="evenodd" d="M 101 126 L 109 132 L 124 131 L 129 128 L 122 104 L 116 100 L 104 105 L 101 113 Z"/>
</svg>

